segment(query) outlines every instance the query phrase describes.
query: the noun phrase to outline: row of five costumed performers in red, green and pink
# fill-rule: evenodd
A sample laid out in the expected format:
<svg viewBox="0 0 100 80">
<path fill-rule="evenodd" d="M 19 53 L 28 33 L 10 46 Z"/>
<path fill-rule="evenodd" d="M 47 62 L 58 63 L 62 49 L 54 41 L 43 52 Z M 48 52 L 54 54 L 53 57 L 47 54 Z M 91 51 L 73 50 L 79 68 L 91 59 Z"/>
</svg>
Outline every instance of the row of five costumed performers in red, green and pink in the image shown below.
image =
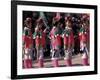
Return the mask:
<svg viewBox="0 0 100 80">
<path fill-rule="evenodd" d="M 32 34 L 31 32 L 31 19 L 26 18 L 26 27 L 24 27 L 23 34 L 23 67 L 24 68 L 32 68 L 32 49 L 33 44 L 35 44 L 36 53 L 37 53 L 37 61 L 39 67 L 43 67 L 44 63 L 44 49 L 46 48 L 46 29 L 42 30 L 41 23 L 37 24 L 35 28 L 35 32 Z M 64 60 L 67 66 L 72 65 L 72 52 L 74 50 L 74 35 L 71 27 L 71 21 L 66 20 L 66 26 L 63 32 L 59 29 L 56 24 L 53 25 L 49 39 L 51 43 L 51 53 L 52 53 L 52 63 L 54 67 L 59 66 L 58 59 L 60 57 L 60 50 L 62 46 L 63 39 L 63 47 L 64 47 Z M 82 51 L 82 64 L 88 65 L 88 49 L 87 49 L 87 32 L 85 29 L 85 23 L 82 24 L 79 32 L 80 38 L 80 50 Z"/>
</svg>

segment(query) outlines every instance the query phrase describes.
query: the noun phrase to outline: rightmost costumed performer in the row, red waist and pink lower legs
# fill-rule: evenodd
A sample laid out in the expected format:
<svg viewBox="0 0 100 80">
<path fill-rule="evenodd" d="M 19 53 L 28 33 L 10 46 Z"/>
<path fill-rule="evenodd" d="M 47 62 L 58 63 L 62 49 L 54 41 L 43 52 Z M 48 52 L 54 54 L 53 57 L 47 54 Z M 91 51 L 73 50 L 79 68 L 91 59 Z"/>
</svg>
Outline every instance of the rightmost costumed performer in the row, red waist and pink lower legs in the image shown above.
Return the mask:
<svg viewBox="0 0 100 80">
<path fill-rule="evenodd" d="M 88 65 L 88 49 L 87 49 L 87 30 L 86 24 L 83 23 L 80 31 L 79 31 L 79 38 L 80 38 L 80 51 L 82 51 L 82 64 Z"/>
</svg>

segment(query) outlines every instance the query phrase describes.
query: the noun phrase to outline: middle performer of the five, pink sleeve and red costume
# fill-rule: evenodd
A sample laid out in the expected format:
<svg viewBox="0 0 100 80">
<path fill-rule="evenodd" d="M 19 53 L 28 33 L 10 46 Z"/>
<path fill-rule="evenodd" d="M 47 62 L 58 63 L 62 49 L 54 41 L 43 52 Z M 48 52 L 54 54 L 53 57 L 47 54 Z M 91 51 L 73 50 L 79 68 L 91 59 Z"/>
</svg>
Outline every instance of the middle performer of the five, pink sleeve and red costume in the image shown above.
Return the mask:
<svg viewBox="0 0 100 80">
<path fill-rule="evenodd" d="M 53 18 L 53 27 L 50 32 L 51 46 L 52 46 L 52 63 L 54 67 L 58 67 L 58 52 L 61 47 L 60 34 L 57 28 L 59 18 Z M 60 41 L 59 41 L 60 40 Z"/>
</svg>

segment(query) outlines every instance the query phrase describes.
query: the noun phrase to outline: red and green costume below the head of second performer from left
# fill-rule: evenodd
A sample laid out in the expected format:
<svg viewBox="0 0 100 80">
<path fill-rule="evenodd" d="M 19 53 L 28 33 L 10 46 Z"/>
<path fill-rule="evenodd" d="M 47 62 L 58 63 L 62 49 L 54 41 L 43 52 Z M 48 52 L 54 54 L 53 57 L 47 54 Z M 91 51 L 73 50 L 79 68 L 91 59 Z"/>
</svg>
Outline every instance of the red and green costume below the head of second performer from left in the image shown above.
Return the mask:
<svg viewBox="0 0 100 80">
<path fill-rule="evenodd" d="M 43 67 L 43 50 L 46 46 L 46 33 L 43 32 L 41 29 L 35 30 L 34 33 L 35 43 L 36 43 L 36 49 L 37 49 L 37 59 L 39 67 Z"/>
</svg>

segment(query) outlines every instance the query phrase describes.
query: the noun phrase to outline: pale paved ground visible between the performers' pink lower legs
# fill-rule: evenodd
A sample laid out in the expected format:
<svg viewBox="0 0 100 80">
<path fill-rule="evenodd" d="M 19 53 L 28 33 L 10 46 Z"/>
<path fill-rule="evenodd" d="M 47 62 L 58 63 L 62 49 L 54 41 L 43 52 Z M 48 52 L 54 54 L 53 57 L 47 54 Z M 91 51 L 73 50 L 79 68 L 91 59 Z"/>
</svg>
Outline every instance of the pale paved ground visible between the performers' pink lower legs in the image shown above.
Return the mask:
<svg viewBox="0 0 100 80">
<path fill-rule="evenodd" d="M 74 55 L 74 56 L 72 57 L 72 66 L 82 66 L 81 57 L 82 57 L 81 54 Z M 64 64 L 64 59 L 61 58 L 61 59 L 59 60 L 59 67 L 64 67 L 64 66 L 65 66 L 65 64 Z M 38 63 L 37 63 L 37 61 L 34 61 L 34 62 L 33 62 L 33 67 L 34 67 L 34 68 L 38 68 Z M 45 60 L 44 60 L 44 67 L 46 67 L 46 68 L 53 67 L 53 66 L 52 66 L 52 61 L 51 61 L 50 59 L 45 59 Z"/>
</svg>

